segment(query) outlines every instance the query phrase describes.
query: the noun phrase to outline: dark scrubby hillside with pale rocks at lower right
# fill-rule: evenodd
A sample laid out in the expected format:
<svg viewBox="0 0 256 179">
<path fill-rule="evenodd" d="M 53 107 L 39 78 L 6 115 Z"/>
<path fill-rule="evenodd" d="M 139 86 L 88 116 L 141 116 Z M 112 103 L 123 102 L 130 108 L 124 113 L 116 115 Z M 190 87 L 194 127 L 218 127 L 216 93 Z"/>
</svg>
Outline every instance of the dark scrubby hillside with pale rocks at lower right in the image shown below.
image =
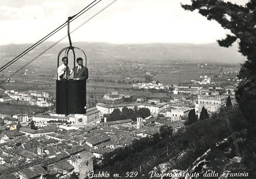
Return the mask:
<svg viewBox="0 0 256 179">
<path fill-rule="evenodd" d="M 105 155 L 103 164 L 94 172 L 118 173 L 125 178 L 126 172 L 137 171 L 138 178 L 147 179 L 152 172 L 184 177 L 196 172 L 197 178 L 204 178 L 206 171 L 215 171 L 221 177 L 227 170 L 248 172 L 253 178 L 256 176 L 255 132 L 238 107 L 222 108 L 211 119 L 197 121 L 173 137 L 143 139 L 141 143 Z"/>
</svg>

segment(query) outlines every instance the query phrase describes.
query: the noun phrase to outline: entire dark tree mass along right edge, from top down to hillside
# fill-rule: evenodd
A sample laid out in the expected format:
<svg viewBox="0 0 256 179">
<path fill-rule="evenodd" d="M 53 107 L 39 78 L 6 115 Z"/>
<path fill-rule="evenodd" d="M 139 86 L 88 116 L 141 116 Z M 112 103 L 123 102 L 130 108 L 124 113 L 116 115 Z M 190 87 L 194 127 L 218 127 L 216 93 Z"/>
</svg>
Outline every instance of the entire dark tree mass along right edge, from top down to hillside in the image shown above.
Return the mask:
<svg viewBox="0 0 256 179">
<path fill-rule="evenodd" d="M 241 111 L 252 126 L 256 126 L 256 0 L 249 0 L 244 6 L 222 0 L 192 0 L 192 5 L 182 5 L 186 10 L 199 10 L 208 20 L 216 20 L 233 35 L 219 40 L 219 45 L 229 47 L 237 41 L 239 52 L 247 57 L 241 66 L 236 89 L 236 100 Z"/>
</svg>

